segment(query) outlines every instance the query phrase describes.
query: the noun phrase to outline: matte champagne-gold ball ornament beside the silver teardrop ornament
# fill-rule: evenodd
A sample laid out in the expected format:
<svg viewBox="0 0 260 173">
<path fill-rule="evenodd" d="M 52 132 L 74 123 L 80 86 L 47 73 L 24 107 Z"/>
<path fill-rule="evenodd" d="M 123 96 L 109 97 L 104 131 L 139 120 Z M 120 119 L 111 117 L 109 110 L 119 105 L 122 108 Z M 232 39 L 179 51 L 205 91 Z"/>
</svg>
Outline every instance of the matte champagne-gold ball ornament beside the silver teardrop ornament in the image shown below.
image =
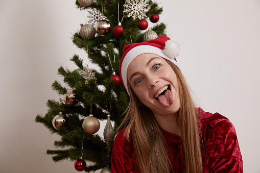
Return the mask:
<svg viewBox="0 0 260 173">
<path fill-rule="evenodd" d="M 82 123 L 82 128 L 87 134 L 92 135 L 99 131 L 100 122 L 98 118 L 93 117 L 92 114 L 89 114 L 89 116 L 86 119 L 84 119 Z"/>
</svg>

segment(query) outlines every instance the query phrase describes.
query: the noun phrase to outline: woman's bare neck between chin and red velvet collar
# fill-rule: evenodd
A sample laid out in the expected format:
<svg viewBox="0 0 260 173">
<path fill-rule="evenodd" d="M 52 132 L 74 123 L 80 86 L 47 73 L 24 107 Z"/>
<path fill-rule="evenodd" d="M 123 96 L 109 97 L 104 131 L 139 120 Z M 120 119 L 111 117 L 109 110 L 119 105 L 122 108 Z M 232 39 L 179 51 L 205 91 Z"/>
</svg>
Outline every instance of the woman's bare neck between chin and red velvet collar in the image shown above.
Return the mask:
<svg viewBox="0 0 260 173">
<path fill-rule="evenodd" d="M 162 128 L 167 132 L 181 136 L 178 123 L 177 123 L 178 114 L 179 112 L 176 112 L 174 114 L 169 114 L 169 115 L 154 114 L 154 117 L 157 120 L 160 128 Z"/>
</svg>

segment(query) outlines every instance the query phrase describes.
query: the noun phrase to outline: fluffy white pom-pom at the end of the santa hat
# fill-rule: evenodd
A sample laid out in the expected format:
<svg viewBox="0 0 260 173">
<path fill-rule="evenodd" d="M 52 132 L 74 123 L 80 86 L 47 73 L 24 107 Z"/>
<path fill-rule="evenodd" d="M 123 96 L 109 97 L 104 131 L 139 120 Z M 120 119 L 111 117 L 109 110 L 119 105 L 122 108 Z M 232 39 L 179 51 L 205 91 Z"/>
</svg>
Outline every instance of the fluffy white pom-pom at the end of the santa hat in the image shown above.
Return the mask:
<svg viewBox="0 0 260 173">
<path fill-rule="evenodd" d="M 180 54 L 180 45 L 173 40 L 168 40 L 165 42 L 165 47 L 163 52 L 169 58 L 175 58 Z"/>
</svg>

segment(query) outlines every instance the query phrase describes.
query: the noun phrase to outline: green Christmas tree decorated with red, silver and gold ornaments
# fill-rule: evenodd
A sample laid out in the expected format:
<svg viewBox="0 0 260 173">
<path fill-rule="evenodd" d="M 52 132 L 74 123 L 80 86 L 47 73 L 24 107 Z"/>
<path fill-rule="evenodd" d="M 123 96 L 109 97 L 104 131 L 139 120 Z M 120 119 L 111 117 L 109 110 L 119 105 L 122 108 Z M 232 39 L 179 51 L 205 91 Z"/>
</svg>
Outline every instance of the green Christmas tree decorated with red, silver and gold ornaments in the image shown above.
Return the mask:
<svg viewBox="0 0 260 173">
<path fill-rule="evenodd" d="M 111 167 L 113 140 L 124 128 L 117 129 L 129 101 L 117 76 L 124 46 L 166 35 L 166 26 L 156 23 L 162 8 L 153 1 L 77 0 L 76 6 L 87 11 L 88 16 L 87 23 L 81 24 L 81 30 L 74 34 L 73 43 L 86 51 L 85 61 L 97 64 L 101 70 L 90 69 L 83 64 L 84 57 L 74 55 L 70 60 L 77 69 L 58 69 L 66 86 L 58 81 L 52 84 L 60 100 L 49 100 L 48 112 L 45 116 L 37 115 L 36 122 L 61 136 L 54 143 L 60 150 L 47 150 L 55 162 L 70 159 L 76 161 L 79 171 L 105 171 Z M 153 27 L 150 22 L 155 23 Z M 95 133 L 99 120 L 104 119 L 107 124 L 103 139 Z M 93 164 L 85 166 L 85 161 Z"/>
</svg>

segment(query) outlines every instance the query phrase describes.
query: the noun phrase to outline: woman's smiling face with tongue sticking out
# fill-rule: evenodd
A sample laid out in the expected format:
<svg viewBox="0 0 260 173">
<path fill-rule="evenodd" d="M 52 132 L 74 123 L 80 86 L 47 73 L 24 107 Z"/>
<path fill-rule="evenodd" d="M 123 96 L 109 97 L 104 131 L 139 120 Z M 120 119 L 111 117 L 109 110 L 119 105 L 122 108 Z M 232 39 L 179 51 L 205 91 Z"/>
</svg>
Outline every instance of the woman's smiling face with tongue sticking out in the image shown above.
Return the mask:
<svg viewBox="0 0 260 173">
<path fill-rule="evenodd" d="M 141 54 L 129 64 L 127 80 L 139 99 L 154 114 L 172 114 L 180 108 L 177 77 L 172 67 L 155 54 Z"/>
</svg>

